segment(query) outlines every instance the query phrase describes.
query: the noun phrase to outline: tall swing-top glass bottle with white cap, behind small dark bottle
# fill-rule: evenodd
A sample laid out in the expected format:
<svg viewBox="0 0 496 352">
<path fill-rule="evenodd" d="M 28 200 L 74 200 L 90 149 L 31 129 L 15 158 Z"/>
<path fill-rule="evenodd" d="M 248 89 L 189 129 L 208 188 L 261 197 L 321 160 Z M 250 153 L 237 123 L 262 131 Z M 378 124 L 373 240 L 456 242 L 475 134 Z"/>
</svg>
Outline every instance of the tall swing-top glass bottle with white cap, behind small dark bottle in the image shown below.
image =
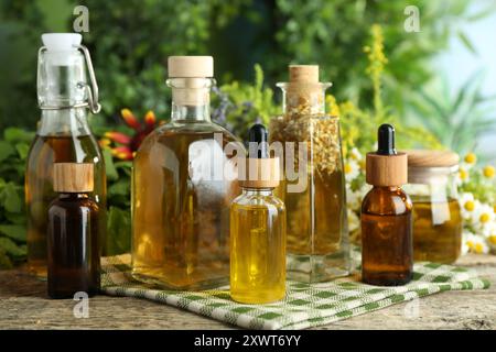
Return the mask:
<svg viewBox="0 0 496 352">
<path fill-rule="evenodd" d="M 40 277 L 46 277 L 47 210 L 57 196 L 53 190 L 54 163 L 95 164 L 95 190 L 91 197 L 101 209 L 99 235 L 105 242 L 105 165 L 87 121 L 88 107 L 94 113 L 99 111 L 98 87 L 89 53 L 80 45 L 80 34 L 43 34 L 44 46 L 39 54 L 37 99 L 42 116 L 28 156 L 25 202 L 28 265 Z M 86 79 L 86 65 L 91 88 Z"/>
</svg>

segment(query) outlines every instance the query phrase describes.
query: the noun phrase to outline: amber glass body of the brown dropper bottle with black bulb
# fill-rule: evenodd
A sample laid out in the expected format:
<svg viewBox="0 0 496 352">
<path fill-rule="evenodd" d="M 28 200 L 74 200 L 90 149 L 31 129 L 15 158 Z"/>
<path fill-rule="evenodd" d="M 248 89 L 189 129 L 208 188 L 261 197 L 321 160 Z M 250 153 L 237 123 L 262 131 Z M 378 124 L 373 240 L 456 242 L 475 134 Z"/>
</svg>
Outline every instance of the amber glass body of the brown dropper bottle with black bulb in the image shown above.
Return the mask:
<svg viewBox="0 0 496 352">
<path fill-rule="evenodd" d="M 396 187 L 374 187 L 362 205 L 362 279 L 395 286 L 413 275 L 411 201 Z"/>
</svg>

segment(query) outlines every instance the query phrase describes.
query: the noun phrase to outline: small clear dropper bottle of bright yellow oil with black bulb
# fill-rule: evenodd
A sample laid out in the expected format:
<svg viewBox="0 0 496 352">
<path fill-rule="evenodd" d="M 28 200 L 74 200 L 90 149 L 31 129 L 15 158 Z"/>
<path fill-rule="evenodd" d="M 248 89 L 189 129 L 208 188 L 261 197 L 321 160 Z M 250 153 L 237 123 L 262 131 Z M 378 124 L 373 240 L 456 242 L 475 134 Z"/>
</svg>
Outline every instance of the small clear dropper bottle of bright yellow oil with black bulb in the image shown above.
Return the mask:
<svg viewBox="0 0 496 352">
<path fill-rule="evenodd" d="M 285 295 L 285 208 L 272 190 L 279 158 L 270 158 L 267 130 L 249 132 L 249 158 L 239 163 L 242 194 L 230 207 L 230 296 L 244 304 L 268 304 Z"/>
</svg>

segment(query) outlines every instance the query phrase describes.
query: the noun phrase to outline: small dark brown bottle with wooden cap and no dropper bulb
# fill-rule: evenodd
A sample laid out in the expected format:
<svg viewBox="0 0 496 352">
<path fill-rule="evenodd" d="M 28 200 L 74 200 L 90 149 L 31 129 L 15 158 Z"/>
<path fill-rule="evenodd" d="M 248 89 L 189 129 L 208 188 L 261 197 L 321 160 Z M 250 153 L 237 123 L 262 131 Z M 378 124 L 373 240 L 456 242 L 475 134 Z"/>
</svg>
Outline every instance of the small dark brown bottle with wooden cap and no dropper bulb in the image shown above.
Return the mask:
<svg viewBox="0 0 496 352">
<path fill-rule="evenodd" d="M 53 179 L 58 198 L 48 208 L 48 296 L 94 296 L 100 289 L 99 209 L 89 196 L 94 165 L 54 164 Z"/>
</svg>

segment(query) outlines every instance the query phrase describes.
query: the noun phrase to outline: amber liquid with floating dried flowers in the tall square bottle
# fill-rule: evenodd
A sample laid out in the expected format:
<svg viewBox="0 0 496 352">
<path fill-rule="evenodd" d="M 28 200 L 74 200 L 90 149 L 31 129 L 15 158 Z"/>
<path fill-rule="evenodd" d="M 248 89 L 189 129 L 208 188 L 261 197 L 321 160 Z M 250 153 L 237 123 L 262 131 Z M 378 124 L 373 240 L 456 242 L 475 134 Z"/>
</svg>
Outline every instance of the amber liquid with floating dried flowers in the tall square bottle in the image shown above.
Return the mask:
<svg viewBox="0 0 496 352">
<path fill-rule="evenodd" d="M 345 276 L 349 271 L 345 179 L 341 151 L 339 120 L 330 116 L 277 117 L 271 120 L 271 142 L 306 145 L 306 188 L 288 191 L 281 182 L 276 195 L 284 201 L 288 218 L 289 276 L 303 282 L 322 282 Z M 284 153 L 287 153 L 284 147 Z M 299 152 L 288 168 L 299 170 Z"/>
</svg>

